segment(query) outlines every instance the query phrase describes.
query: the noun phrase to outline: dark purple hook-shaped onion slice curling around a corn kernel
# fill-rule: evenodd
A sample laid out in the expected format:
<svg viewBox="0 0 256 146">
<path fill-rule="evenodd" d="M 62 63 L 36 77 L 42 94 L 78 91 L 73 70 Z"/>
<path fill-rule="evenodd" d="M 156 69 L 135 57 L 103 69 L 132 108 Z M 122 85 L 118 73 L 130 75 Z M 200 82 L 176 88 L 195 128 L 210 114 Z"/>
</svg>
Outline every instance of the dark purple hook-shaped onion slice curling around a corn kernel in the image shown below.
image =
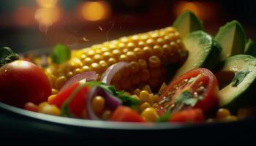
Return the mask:
<svg viewBox="0 0 256 146">
<path fill-rule="evenodd" d="M 95 115 L 91 106 L 91 101 L 95 96 L 102 96 L 105 98 L 105 106 L 110 110 L 115 110 L 116 107 L 122 104 L 121 99 L 118 99 L 116 96 L 113 96 L 104 89 L 100 87 L 92 87 L 89 93 L 86 95 L 86 111 L 88 113 L 89 119 L 91 120 L 101 120 L 97 115 Z"/>
</svg>

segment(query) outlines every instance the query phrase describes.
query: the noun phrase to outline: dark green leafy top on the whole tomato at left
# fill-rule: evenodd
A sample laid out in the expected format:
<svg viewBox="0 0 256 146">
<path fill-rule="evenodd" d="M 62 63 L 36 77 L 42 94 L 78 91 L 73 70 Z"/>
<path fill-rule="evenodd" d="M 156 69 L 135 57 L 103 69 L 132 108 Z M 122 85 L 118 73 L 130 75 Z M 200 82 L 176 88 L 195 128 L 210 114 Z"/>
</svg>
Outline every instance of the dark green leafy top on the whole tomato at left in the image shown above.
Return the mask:
<svg viewBox="0 0 256 146">
<path fill-rule="evenodd" d="M 15 60 L 18 60 L 18 54 L 13 53 L 10 47 L 0 49 L 0 67 Z"/>
</svg>

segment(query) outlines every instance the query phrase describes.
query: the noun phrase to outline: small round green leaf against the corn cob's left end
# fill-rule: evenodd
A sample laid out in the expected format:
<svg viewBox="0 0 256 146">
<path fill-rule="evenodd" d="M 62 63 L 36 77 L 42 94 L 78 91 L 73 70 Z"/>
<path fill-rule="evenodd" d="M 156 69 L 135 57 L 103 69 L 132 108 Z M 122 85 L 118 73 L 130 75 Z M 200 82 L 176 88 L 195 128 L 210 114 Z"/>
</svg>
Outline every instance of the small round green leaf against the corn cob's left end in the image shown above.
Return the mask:
<svg viewBox="0 0 256 146">
<path fill-rule="evenodd" d="M 62 64 L 69 60 L 71 51 L 65 45 L 56 45 L 53 49 L 53 53 L 50 54 L 50 58 L 55 64 Z"/>
</svg>

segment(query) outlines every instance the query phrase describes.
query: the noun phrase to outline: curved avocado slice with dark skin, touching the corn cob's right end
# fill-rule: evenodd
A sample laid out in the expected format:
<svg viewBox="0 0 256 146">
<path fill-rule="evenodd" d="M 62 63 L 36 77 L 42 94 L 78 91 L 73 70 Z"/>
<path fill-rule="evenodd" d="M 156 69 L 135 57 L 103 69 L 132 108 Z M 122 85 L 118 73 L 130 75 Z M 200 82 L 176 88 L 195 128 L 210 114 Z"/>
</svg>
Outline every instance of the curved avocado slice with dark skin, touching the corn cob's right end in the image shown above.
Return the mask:
<svg viewBox="0 0 256 146">
<path fill-rule="evenodd" d="M 184 38 L 184 45 L 188 50 L 185 63 L 175 74 L 178 77 L 191 69 L 204 67 L 214 69 L 219 61 L 222 47 L 209 34 L 204 31 L 194 31 Z"/>
</svg>

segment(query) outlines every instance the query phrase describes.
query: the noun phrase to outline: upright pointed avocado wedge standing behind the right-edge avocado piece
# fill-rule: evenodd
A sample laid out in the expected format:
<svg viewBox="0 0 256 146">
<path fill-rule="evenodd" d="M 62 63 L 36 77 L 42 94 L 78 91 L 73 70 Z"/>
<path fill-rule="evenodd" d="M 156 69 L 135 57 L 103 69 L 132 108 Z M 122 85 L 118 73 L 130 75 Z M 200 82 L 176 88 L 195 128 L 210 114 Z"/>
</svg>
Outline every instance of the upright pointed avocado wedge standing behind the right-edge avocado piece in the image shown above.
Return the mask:
<svg viewBox="0 0 256 146">
<path fill-rule="evenodd" d="M 215 39 L 222 46 L 222 61 L 232 55 L 244 53 L 246 37 L 244 28 L 237 20 L 226 23 L 225 26 L 219 28 Z"/>
</svg>

